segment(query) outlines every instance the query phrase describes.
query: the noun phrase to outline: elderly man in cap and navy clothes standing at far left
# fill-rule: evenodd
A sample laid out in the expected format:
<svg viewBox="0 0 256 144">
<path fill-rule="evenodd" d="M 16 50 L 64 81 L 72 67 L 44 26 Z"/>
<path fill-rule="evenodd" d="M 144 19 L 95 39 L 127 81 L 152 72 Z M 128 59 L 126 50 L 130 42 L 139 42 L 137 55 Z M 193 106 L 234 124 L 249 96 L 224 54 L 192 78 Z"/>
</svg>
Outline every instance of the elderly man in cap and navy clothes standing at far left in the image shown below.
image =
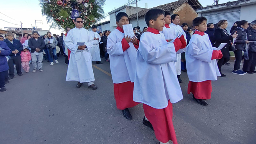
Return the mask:
<svg viewBox="0 0 256 144">
<path fill-rule="evenodd" d="M 9 65 L 9 79 L 14 78 L 14 65 L 16 65 L 17 74 L 19 76 L 22 76 L 21 72 L 21 57 L 20 53 L 23 49 L 23 45 L 20 43 L 19 40 L 14 39 L 14 34 L 11 32 L 6 33 L 7 39 L 4 40 L 6 42 L 7 46 L 11 49 L 12 53 L 9 55 L 11 59 L 8 61 Z"/>
</svg>

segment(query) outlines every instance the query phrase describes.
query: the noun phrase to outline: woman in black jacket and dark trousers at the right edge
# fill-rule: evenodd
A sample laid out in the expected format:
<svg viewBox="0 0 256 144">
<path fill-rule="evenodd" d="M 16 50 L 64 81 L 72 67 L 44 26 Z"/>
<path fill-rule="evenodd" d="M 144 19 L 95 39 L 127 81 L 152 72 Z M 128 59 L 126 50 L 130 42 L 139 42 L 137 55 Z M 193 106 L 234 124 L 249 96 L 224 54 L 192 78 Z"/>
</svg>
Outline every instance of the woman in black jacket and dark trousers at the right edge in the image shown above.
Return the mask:
<svg viewBox="0 0 256 144">
<path fill-rule="evenodd" d="M 249 28 L 245 31 L 247 33 L 247 38 L 250 41 L 256 41 L 256 21 L 252 21 Z M 243 71 L 248 74 L 256 73 L 256 42 L 250 42 L 248 50 L 249 60 L 244 60 Z"/>
</svg>

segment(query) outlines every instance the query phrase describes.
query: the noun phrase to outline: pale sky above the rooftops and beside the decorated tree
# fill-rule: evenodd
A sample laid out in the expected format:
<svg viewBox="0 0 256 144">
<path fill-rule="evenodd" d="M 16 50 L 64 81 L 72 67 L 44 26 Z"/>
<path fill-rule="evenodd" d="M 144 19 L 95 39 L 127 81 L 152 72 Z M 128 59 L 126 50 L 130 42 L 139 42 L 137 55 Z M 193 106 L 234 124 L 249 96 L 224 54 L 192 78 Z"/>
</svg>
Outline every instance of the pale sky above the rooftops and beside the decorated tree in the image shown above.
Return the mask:
<svg viewBox="0 0 256 144">
<path fill-rule="evenodd" d="M 140 0 L 138 2 L 138 7 L 145 8 L 145 4 L 147 3 L 148 8 L 152 8 L 174 1 L 176 0 Z M 235 0 L 219 0 L 219 4 L 229 1 Z M 109 16 L 107 16 L 108 12 L 114 10 L 115 8 L 117 9 L 118 7 L 122 6 L 127 2 L 128 0 L 106 0 L 105 5 L 103 6 L 106 17 L 101 21 L 109 20 Z M 203 5 L 203 7 L 213 4 L 213 0 L 199 0 L 199 2 Z M 20 21 L 23 23 L 23 28 L 31 28 L 31 24 L 33 27 L 36 27 L 35 20 L 42 20 L 43 25 L 37 25 L 37 28 L 42 28 L 43 30 L 50 30 L 50 32 L 56 34 L 60 34 L 61 32 L 63 32 L 59 29 L 50 29 L 51 23 L 47 23 L 45 16 L 42 16 L 41 7 L 39 6 L 39 0 L 3 0 L 1 2 L 1 6 L 0 29 L 4 29 L 4 27 L 20 27 Z M 131 6 L 136 6 L 136 4 Z"/>
</svg>

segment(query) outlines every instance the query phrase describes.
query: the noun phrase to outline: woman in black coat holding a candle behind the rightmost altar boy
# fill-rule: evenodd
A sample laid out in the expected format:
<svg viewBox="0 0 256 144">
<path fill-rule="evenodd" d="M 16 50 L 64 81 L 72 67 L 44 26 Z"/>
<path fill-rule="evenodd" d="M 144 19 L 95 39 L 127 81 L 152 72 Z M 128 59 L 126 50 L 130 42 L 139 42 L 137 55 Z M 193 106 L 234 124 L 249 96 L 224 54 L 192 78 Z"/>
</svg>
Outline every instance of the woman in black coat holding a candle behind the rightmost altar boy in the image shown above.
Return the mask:
<svg viewBox="0 0 256 144">
<path fill-rule="evenodd" d="M 221 67 L 224 65 L 224 63 L 229 61 L 229 46 L 230 43 L 237 37 L 237 34 L 229 35 L 226 28 L 228 27 L 228 21 L 223 19 L 220 20 L 217 24 L 218 28 L 214 32 L 214 39 L 216 40 L 216 43 L 214 47 L 219 47 L 221 43 L 226 43 L 226 45 L 221 49 L 221 53 L 223 54 L 222 58 L 219 59 L 217 65 L 220 71 L 220 74 L 222 77 L 226 77 L 226 75 L 222 74 Z"/>
</svg>

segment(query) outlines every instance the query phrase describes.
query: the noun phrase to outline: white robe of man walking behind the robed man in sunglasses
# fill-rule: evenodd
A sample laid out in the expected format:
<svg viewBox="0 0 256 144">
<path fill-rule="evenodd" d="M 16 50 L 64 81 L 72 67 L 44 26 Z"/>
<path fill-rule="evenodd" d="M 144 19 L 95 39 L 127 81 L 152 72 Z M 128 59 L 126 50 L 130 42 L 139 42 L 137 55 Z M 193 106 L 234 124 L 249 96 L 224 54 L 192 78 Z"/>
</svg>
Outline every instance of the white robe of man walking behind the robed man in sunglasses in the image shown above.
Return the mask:
<svg viewBox="0 0 256 144">
<path fill-rule="evenodd" d="M 92 61 L 101 61 L 100 58 L 100 35 L 97 32 L 90 31 L 90 35 L 92 38 L 96 37 L 99 38 L 99 40 L 93 40 L 92 48 L 90 49 L 91 55 L 92 55 Z"/>
</svg>

